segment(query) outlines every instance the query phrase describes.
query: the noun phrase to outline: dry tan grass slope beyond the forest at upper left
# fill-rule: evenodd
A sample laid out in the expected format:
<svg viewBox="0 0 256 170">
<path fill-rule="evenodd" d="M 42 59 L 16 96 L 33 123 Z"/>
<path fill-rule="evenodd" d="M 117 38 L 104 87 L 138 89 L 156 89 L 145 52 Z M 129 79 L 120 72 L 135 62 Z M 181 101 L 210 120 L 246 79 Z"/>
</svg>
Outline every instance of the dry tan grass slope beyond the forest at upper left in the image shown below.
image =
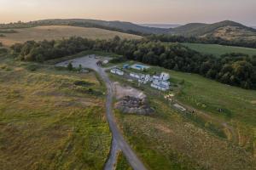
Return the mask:
<svg viewBox="0 0 256 170">
<path fill-rule="evenodd" d="M 87 37 L 90 39 L 109 39 L 115 36 L 127 39 L 141 38 L 117 31 L 76 26 L 36 26 L 32 28 L 15 29 L 15 31 L 17 31 L 17 33 L 5 34 L 5 37 L 0 37 L 0 42 L 9 46 L 16 42 L 26 42 L 28 40 L 42 41 L 44 39 L 52 40 L 73 36 Z"/>
</svg>

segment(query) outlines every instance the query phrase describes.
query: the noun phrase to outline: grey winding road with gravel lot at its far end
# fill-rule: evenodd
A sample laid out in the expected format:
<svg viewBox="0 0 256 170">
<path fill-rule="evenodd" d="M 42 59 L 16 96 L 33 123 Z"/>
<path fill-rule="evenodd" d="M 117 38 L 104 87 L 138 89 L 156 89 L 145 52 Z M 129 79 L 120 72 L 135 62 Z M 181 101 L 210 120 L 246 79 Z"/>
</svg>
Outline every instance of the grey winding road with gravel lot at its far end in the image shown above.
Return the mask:
<svg viewBox="0 0 256 170">
<path fill-rule="evenodd" d="M 123 137 L 122 133 L 119 131 L 119 127 L 115 122 L 115 118 L 113 116 L 113 110 L 112 110 L 113 84 L 109 80 L 107 73 L 102 69 L 102 67 L 96 65 L 97 60 L 99 59 L 95 59 L 95 57 L 86 56 L 78 59 L 70 59 L 68 61 L 61 62 L 57 64 L 57 66 L 67 66 L 69 62 L 72 62 L 74 67 L 79 67 L 79 65 L 82 65 L 82 67 L 84 68 L 90 68 L 96 71 L 100 75 L 100 77 L 102 77 L 103 82 L 106 83 L 106 86 L 108 88 L 108 95 L 106 100 L 106 109 L 107 109 L 106 113 L 107 113 L 108 125 L 110 127 L 110 130 L 113 136 L 113 142 L 112 142 L 113 145 L 111 147 L 112 150 L 109 156 L 110 160 L 108 160 L 105 166 L 105 170 L 113 169 L 114 156 L 111 156 L 111 155 L 114 154 L 114 152 L 116 151 L 115 149 L 117 149 L 115 144 L 117 144 L 119 150 L 122 150 L 123 154 L 126 157 L 126 160 L 130 163 L 131 167 L 134 170 L 146 170 L 146 167 L 144 167 L 143 162 L 140 161 L 140 159 L 137 157 L 135 152 L 131 149 L 131 146 L 125 141 L 125 138 Z"/>
</svg>

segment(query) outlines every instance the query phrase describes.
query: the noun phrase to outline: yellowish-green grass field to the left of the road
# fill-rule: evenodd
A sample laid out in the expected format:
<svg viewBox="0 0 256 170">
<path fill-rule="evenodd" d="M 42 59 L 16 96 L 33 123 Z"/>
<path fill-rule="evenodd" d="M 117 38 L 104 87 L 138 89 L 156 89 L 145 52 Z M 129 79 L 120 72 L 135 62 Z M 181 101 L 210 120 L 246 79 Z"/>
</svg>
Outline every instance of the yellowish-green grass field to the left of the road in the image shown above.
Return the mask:
<svg viewBox="0 0 256 170">
<path fill-rule="evenodd" d="M 1 169 L 102 169 L 105 87 L 94 72 L 31 65 L 0 59 Z"/>
</svg>

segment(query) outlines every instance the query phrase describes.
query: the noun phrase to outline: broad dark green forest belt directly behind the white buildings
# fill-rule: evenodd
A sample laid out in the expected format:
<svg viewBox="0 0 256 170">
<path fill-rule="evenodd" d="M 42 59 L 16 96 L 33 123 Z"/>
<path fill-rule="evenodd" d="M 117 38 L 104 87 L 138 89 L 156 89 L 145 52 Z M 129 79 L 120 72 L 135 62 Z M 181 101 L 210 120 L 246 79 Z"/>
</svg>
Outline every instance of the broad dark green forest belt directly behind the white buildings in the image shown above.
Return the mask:
<svg viewBox="0 0 256 170">
<path fill-rule="evenodd" d="M 81 37 L 69 39 L 17 43 L 11 47 L 21 60 L 44 60 L 77 54 L 84 50 L 100 50 L 123 55 L 149 65 L 166 69 L 197 73 L 218 82 L 256 89 L 256 56 L 224 54 L 220 57 L 200 54 L 179 43 L 143 40 L 89 40 Z"/>
</svg>

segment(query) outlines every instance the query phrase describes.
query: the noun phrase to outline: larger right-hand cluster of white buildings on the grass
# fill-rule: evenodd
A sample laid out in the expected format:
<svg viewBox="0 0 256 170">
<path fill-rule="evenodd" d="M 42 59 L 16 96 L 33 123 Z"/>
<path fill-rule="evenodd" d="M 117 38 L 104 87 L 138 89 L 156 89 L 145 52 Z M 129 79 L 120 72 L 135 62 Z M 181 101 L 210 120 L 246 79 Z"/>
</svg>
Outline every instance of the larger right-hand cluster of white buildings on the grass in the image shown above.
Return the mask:
<svg viewBox="0 0 256 170">
<path fill-rule="evenodd" d="M 144 75 L 144 74 L 137 74 L 137 73 L 130 73 L 130 77 L 134 77 L 138 79 L 138 82 L 147 84 L 148 82 L 151 82 L 151 87 L 156 88 L 162 91 L 166 91 L 170 89 L 170 82 L 168 80 L 170 79 L 170 75 L 168 73 L 162 72 L 160 76 L 153 76 L 150 75 Z"/>
</svg>

